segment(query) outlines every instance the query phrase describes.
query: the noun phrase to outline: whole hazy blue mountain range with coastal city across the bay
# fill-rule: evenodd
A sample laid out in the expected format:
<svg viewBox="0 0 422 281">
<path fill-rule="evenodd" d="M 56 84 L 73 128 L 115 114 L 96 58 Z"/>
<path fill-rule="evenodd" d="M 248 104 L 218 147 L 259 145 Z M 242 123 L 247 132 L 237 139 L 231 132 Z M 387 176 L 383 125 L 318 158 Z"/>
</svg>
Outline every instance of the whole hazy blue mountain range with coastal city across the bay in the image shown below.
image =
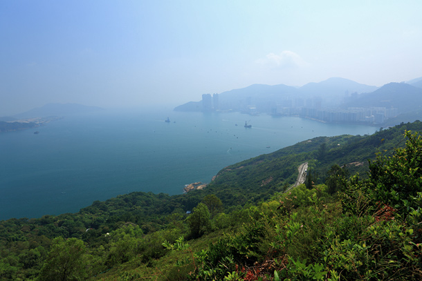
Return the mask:
<svg viewBox="0 0 422 281">
<path fill-rule="evenodd" d="M 217 100 L 218 105 L 214 106 Z M 422 77 L 407 83 L 386 84 L 380 88 L 338 77 L 299 88 L 284 84 L 253 84 L 223 92 L 218 95 L 218 99 L 208 99 L 205 103 L 208 103 L 208 108 L 214 107 L 214 110 L 233 110 L 251 115 L 293 115 L 338 123 L 364 122 L 363 117 L 357 116 L 356 112 L 351 113 L 347 108 L 395 108 L 385 111 L 384 121 L 378 115 L 378 119 L 373 121 L 373 124 L 392 126 L 422 119 Z M 202 111 L 203 101 L 191 101 L 174 110 Z M 337 114 L 340 111 L 342 115 Z M 365 124 L 371 122 L 366 117 L 375 116 L 367 111 L 360 112 L 360 115 L 365 116 Z"/>
</svg>

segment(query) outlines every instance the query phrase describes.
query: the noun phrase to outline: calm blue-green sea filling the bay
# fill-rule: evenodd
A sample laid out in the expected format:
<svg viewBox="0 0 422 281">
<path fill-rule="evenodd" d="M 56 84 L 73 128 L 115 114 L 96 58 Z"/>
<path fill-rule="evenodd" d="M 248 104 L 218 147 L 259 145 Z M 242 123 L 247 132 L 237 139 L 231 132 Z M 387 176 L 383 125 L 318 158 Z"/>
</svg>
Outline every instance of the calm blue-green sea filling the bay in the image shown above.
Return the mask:
<svg viewBox="0 0 422 281">
<path fill-rule="evenodd" d="M 75 213 L 133 191 L 180 194 L 185 184 L 210 182 L 221 168 L 250 157 L 312 137 L 376 129 L 152 108 L 69 116 L 0 134 L 0 220 Z"/>
</svg>

